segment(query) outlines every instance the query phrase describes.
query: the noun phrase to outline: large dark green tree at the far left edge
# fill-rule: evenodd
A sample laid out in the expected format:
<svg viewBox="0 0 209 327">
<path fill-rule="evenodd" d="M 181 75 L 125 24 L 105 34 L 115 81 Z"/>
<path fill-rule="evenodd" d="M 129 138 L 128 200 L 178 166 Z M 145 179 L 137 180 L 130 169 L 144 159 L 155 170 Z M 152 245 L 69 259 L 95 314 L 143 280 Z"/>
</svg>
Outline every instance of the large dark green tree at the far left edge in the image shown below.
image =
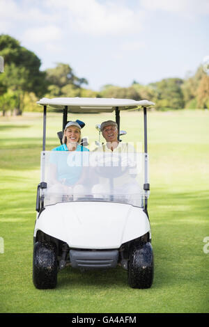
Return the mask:
<svg viewBox="0 0 209 327">
<path fill-rule="evenodd" d="M 12 90 L 18 98 L 17 112 L 21 114 L 26 92 L 33 92 L 39 97 L 45 94 L 45 72 L 40 71 L 38 56 L 10 35 L 0 35 L 0 56 L 4 59 L 4 72 L 0 77 L 1 95 Z"/>
</svg>

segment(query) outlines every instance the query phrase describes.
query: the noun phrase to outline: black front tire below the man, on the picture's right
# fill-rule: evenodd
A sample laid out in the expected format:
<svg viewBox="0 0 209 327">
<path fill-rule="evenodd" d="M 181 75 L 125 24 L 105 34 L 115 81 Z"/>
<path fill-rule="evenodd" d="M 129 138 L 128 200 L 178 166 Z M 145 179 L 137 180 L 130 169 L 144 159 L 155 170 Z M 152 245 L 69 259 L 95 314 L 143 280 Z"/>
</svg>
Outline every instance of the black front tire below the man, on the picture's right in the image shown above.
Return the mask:
<svg viewBox="0 0 209 327">
<path fill-rule="evenodd" d="M 150 242 L 133 245 L 130 250 L 128 282 L 130 287 L 147 289 L 153 284 L 154 261 Z"/>
</svg>

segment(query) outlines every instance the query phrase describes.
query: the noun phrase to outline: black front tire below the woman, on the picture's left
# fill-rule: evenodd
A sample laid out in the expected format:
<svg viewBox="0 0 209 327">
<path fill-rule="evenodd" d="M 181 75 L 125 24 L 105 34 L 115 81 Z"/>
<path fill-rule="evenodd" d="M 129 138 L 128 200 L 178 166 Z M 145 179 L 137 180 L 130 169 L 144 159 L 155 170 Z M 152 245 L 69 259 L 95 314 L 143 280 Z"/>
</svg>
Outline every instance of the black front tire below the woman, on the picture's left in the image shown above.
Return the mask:
<svg viewBox="0 0 209 327">
<path fill-rule="evenodd" d="M 52 243 L 36 242 L 33 248 L 33 284 L 37 289 L 53 289 L 57 283 L 57 253 Z"/>
</svg>

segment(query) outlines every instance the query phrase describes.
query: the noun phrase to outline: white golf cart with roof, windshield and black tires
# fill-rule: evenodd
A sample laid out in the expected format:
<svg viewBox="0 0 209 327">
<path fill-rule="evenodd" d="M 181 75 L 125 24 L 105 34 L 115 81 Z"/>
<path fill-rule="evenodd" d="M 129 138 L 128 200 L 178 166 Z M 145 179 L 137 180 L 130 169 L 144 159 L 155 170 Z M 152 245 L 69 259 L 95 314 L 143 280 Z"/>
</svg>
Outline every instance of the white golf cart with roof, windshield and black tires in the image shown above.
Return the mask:
<svg viewBox="0 0 209 327">
<path fill-rule="evenodd" d="M 33 284 L 38 289 L 56 287 L 57 273 L 68 266 L 84 271 L 121 266 L 127 270 L 130 287 L 151 287 L 154 263 L 148 218 L 146 115 L 153 102 L 75 97 L 43 98 L 37 103 L 43 106 L 43 139 Z M 101 144 L 94 151 L 46 151 L 47 106 L 63 113 L 63 131 L 68 113 L 115 111 L 120 131 L 122 110 L 143 109 L 144 152 L 129 147 L 125 152 L 109 153 L 101 150 Z M 63 131 L 59 132 L 60 141 Z M 59 177 L 62 170 L 74 178 L 70 185 Z"/>
</svg>

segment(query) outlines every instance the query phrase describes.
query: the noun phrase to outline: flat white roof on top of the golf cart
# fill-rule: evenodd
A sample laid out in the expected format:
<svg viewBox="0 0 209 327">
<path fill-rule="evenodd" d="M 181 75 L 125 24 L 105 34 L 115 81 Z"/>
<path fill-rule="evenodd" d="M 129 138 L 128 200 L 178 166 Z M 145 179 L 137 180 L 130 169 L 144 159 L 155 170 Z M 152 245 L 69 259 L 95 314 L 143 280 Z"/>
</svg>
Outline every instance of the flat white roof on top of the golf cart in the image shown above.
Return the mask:
<svg viewBox="0 0 209 327">
<path fill-rule="evenodd" d="M 116 107 L 118 107 L 119 110 L 128 110 L 143 107 L 148 108 L 149 106 L 155 105 L 148 100 L 135 101 L 132 99 L 99 97 L 54 97 L 54 99 L 43 97 L 37 104 L 50 106 L 54 109 L 63 109 L 64 106 L 69 106 L 72 113 L 111 113 Z"/>
</svg>

